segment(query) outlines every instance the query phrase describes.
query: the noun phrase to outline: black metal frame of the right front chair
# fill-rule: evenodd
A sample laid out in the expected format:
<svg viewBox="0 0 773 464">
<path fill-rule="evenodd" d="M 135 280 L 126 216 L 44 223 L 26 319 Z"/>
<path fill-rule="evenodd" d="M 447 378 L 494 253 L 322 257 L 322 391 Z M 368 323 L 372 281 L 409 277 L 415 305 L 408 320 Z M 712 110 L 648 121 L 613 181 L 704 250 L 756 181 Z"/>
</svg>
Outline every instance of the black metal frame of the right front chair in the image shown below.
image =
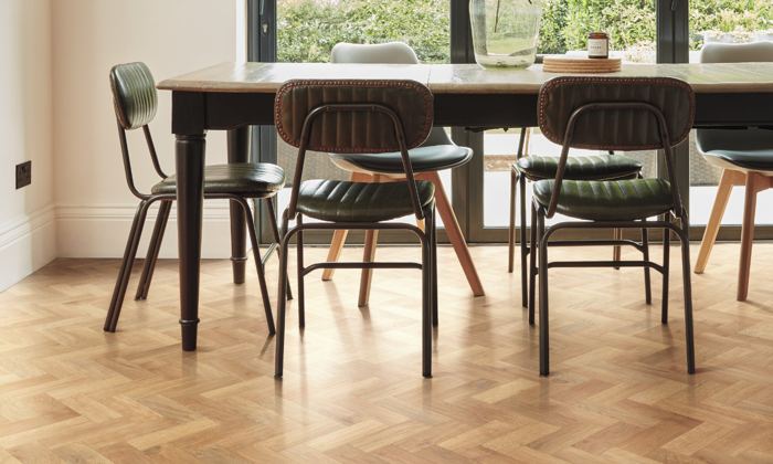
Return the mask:
<svg viewBox="0 0 773 464">
<path fill-rule="evenodd" d="M 661 221 L 633 220 L 633 221 L 597 221 L 597 222 L 562 222 L 553 224 L 546 231 L 544 219 L 552 218 L 555 214 L 559 196 L 561 193 L 561 183 L 563 181 L 564 168 L 569 156 L 569 148 L 572 144 L 574 135 L 574 126 L 581 115 L 593 110 L 610 110 L 610 109 L 644 109 L 652 113 L 658 122 L 658 130 L 663 149 L 665 151 L 666 167 L 668 170 L 668 180 L 671 186 L 671 196 L 674 208 L 668 213 L 664 214 Z M 687 211 L 681 204 L 679 198 L 679 189 L 677 187 L 676 170 L 674 167 L 673 151 L 668 137 L 668 128 L 666 118 L 663 113 L 653 105 L 638 102 L 613 102 L 613 103 L 590 103 L 575 109 L 569 118 L 566 131 L 563 139 L 563 148 L 561 151 L 561 160 L 555 177 L 553 193 L 550 199 L 550 204 L 546 209 L 537 199 L 532 202 L 532 221 L 531 221 L 531 243 L 532 247 L 539 250 L 539 266 L 537 265 L 536 254 L 531 254 L 531 286 L 533 287 L 534 275 L 539 274 L 539 338 L 540 338 L 540 375 L 548 376 L 550 373 L 550 346 L 548 339 L 548 270 L 551 267 L 645 267 L 653 268 L 663 274 L 663 307 L 660 320 L 663 324 L 668 323 L 668 273 L 669 273 L 669 242 L 670 232 L 674 232 L 681 242 L 681 266 L 682 281 L 685 289 L 685 337 L 687 345 L 687 372 L 695 373 L 695 342 L 692 334 L 692 291 L 690 284 L 690 247 L 687 231 L 689 230 L 689 221 Z M 681 222 L 681 228 L 678 228 L 670 221 L 670 215 L 678 218 Z M 663 229 L 664 230 L 664 264 L 659 265 L 649 261 L 649 254 L 646 247 L 638 243 L 620 240 L 589 240 L 589 241 L 572 241 L 572 242 L 553 242 L 551 245 L 563 246 L 596 246 L 608 244 L 625 244 L 633 245 L 644 253 L 644 261 L 575 261 L 575 262 L 548 262 L 548 243 L 550 236 L 563 229 Z M 539 238 L 539 239 L 538 239 Z M 533 249 L 532 249 L 533 250 Z M 533 295 L 533 292 L 532 292 Z M 529 324 L 533 324 L 534 314 L 533 306 L 529 309 Z"/>
</svg>

